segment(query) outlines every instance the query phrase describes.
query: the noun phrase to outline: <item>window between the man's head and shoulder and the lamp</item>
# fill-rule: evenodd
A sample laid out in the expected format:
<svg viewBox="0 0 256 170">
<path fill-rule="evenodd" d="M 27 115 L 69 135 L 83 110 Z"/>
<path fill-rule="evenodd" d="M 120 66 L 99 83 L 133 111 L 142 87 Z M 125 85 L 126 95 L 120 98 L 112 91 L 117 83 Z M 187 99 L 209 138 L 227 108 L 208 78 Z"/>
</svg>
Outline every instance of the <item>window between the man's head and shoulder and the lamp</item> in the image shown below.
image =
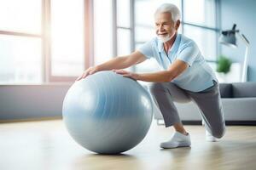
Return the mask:
<svg viewBox="0 0 256 170">
<path fill-rule="evenodd" d="M 207 60 L 217 58 L 215 0 L 183 0 L 183 34 L 195 40 Z"/>
</svg>

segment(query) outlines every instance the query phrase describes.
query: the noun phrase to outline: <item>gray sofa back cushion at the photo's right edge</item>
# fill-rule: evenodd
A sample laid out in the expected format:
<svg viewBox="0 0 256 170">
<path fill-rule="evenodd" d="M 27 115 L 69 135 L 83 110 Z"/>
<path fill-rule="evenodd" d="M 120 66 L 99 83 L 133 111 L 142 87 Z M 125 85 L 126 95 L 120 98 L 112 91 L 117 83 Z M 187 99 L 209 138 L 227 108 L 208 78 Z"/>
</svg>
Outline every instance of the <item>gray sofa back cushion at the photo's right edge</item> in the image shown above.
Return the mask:
<svg viewBox="0 0 256 170">
<path fill-rule="evenodd" d="M 232 83 L 233 98 L 256 97 L 256 82 L 234 82 Z"/>
</svg>

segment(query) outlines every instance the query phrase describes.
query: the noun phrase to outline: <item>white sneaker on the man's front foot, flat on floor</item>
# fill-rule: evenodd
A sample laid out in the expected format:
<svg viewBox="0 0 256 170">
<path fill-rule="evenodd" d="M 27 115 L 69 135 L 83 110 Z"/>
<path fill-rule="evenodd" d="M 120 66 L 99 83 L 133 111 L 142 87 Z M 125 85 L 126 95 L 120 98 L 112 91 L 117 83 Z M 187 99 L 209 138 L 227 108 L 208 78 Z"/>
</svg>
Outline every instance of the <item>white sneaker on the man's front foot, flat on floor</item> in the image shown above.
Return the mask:
<svg viewBox="0 0 256 170">
<path fill-rule="evenodd" d="M 177 147 L 189 147 L 191 145 L 190 135 L 184 135 L 183 133 L 175 132 L 172 135 L 172 139 L 167 142 L 163 142 L 160 144 L 161 148 L 164 149 L 172 149 Z"/>
</svg>

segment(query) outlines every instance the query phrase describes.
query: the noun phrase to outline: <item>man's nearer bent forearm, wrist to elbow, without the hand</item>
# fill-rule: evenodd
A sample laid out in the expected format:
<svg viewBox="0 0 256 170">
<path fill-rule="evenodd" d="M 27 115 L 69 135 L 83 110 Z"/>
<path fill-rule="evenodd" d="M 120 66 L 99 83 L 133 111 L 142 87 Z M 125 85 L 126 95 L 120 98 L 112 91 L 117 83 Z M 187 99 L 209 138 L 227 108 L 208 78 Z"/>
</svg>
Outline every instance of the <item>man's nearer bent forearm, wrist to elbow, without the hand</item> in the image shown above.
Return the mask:
<svg viewBox="0 0 256 170">
<path fill-rule="evenodd" d="M 174 78 L 171 71 L 138 74 L 138 80 L 144 82 L 171 82 Z"/>
</svg>

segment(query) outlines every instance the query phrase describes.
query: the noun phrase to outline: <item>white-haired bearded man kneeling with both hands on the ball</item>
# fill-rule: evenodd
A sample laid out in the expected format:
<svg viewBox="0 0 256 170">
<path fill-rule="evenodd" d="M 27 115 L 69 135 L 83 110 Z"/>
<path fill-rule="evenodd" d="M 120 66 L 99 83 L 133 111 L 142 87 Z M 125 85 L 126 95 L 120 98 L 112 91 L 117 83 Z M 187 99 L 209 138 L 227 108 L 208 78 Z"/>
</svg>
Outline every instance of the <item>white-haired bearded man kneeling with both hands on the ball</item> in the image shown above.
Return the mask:
<svg viewBox="0 0 256 170">
<path fill-rule="evenodd" d="M 172 3 L 162 4 L 155 11 L 154 20 L 156 37 L 145 42 L 132 54 L 90 67 L 77 80 L 96 71 L 113 70 L 124 77 L 153 82 L 150 92 L 164 117 L 165 125 L 175 129 L 171 139 L 160 144 L 161 148 L 191 145 L 189 133 L 183 127 L 174 101 L 193 100 L 201 110 L 207 140 L 216 141 L 225 132 L 217 78 L 195 42 L 177 33 L 180 26 L 180 11 L 177 6 Z M 122 70 L 149 58 L 156 59 L 163 71 L 141 74 Z"/>
</svg>

